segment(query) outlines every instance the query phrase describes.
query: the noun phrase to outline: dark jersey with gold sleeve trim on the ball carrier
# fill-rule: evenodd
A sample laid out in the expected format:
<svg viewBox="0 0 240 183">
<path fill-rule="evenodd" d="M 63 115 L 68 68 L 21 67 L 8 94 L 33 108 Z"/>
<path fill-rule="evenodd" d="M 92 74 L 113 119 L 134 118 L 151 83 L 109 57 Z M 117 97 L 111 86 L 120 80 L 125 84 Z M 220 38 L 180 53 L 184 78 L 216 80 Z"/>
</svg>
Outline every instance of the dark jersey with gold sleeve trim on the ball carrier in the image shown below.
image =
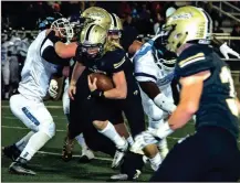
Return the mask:
<svg viewBox="0 0 240 183">
<path fill-rule="evenodd" d="M 109 77 L 114 73 L 123 71 L 127 82 L 127 90 L 137 89 L 137 83 L 134 77 L 134 65 L 126 56 L 124 50 L 116 49 L 115 51 L 106 52 L 101 58 L 80 61 L 86 68 L 93 73 L 103 73 Z"/>
</svg>

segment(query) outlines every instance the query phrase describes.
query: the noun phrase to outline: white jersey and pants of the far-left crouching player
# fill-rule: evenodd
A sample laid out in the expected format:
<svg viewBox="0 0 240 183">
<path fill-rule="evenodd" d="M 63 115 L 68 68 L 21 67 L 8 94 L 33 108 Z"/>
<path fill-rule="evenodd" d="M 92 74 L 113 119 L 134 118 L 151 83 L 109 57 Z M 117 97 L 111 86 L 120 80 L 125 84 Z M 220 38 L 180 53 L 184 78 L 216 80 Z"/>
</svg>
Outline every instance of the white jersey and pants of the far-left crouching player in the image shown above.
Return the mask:
<svg viewBox="0 0 240 183">
<path fill-rule="evenodd" d="M 54 122 L 42 99 L 46 95 L 52 74 L 58 72 L 58 66 L 46 62 L 41 54 L 44 47 L 51 44 L 45 40 L 45 31 L 43 31 L 30 45 L 18 88 L 20 94 L 10 99 L 12 112 L 28 128 L 34 132 L 43 130 L 50 137 L 54 134 Z"/>
</svg>

